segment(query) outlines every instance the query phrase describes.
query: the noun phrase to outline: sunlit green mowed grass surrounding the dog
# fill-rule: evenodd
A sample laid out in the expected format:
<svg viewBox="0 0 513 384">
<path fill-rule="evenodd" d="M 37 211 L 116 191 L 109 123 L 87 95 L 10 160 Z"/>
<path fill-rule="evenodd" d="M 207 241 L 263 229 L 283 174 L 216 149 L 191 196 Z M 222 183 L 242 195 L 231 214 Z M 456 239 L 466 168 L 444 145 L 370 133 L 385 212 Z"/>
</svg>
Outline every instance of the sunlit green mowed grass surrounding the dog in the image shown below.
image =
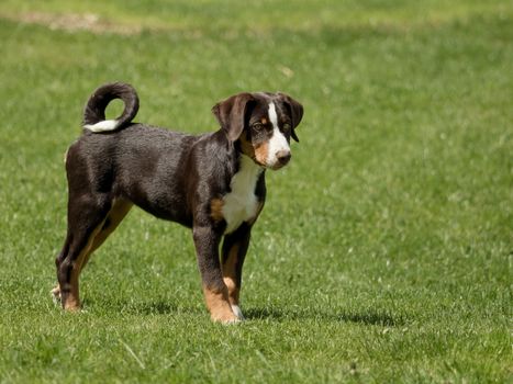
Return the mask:
<svg viewBox="0 0 513 384">
<path fill-rule="evenodd" d="M 0 381 L 512 382 L 511 2 L 144 3 L 0 4 Z M 42 12 L 103 26 L 16 22 Z M 243 324 L 210 321 L 189 230 L 140 210 L 83 272 L 85 310 L 52 303 L 63 156 L 113 80 L 137 121 L 191 133 L 239 91 L 303 103 Z"/>
</svg>

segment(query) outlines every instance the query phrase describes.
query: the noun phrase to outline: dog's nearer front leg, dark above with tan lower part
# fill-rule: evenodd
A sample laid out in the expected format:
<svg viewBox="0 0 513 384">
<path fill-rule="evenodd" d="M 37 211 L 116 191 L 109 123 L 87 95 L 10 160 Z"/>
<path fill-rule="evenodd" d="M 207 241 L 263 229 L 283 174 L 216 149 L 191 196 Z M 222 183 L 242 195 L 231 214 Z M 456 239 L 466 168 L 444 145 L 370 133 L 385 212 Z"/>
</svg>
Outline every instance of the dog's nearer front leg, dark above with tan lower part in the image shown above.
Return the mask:
<svg viewBox="0 0 513 384">
<path fill-rule="evenodd" d="M 238 321 L 230 305 L 228 289 L 221 272 L 219 260 L 221 234 L 210 226 L 194 226 L 192 235 L 210 317 L 213 321 L 224 324 Z"/>
</svg>

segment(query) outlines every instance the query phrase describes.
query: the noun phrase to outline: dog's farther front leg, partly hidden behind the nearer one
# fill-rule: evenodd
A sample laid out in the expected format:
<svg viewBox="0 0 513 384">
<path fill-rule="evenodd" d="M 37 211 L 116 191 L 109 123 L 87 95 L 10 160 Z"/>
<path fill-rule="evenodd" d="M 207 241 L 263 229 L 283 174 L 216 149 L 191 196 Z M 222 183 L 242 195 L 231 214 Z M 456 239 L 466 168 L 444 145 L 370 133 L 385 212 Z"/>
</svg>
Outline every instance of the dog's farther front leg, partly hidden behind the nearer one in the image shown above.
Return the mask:
<svg viewBox="0 0 513 384">
<path fill-rule="evenodd" d="M 228 289 L 228 301 L 234 314 L 244 319 L 238 306 L 243 263 L 249 246 L 252 227 L 243 223 L 235 231 L 224 237 L 222 247 L 223 280 Z"/>
</svg>

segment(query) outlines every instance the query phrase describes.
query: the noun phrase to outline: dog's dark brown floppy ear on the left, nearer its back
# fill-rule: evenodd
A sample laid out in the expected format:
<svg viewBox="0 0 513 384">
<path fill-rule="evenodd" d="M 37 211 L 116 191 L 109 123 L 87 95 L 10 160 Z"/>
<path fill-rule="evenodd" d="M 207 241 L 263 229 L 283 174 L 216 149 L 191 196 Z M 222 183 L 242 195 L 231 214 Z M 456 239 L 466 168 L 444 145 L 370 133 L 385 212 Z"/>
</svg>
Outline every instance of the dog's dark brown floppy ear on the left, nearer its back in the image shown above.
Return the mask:
<svg viewBox="0 0 513 384">
<path fill-rule="evenodd" d="M 250 93 L 238 93 L 212 108 L 212 113 L 231 142 L 237 140 L 243 133 L 247 106 L 254 100 Z"/>
</svg>

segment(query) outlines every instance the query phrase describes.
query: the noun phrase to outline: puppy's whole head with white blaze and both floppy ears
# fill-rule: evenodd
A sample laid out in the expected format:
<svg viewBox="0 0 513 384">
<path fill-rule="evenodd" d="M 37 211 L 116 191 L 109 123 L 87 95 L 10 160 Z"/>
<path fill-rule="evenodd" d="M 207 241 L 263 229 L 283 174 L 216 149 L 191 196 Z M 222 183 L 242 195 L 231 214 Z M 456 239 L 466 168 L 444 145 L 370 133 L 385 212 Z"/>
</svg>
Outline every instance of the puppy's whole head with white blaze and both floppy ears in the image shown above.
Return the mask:
<svg viewBox="0 0 513 384">
<path fill-rule="evenodd" d="M 290 138 L 303 106 L 285 93 L 239 93 L 212 108 L 228 140 L 265 168 L 280 169 L 290 158 Z"/>
</svg>

